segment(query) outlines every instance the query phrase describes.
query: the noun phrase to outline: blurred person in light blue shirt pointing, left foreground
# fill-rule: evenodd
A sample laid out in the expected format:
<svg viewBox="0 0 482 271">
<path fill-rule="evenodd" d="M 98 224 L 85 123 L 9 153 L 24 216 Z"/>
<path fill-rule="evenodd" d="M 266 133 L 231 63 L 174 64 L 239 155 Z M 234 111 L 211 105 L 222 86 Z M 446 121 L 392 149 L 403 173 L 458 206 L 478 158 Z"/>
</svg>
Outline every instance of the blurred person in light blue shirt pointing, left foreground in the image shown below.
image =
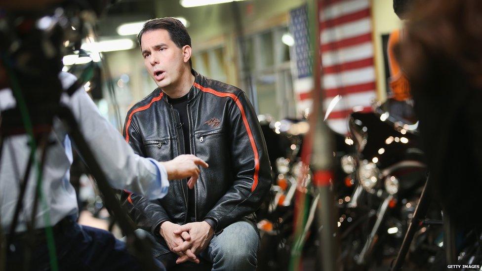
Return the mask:
<svg viewBox="0 0 482 271">
<path fill-rule="evenodd" d="M 77 80 L 64 72 L 59 74 L 59 79 L 64 89 Z M 16 105 L 8 87 L 8 77 L 0 62 L 0 111 Z M 83 87 L 72 96 L 63 93 L 61 103 L 72 111 L 81 133 L 114 188 L 129 189 L 149 199 L 158 199 L 167 193 L 168 180 L 191 177 L 194 184 L 199 175 L 198 165 L 207 167 L 194 155 L 180 155 L 170 161 L 158 162 L 134 154 L 117 129 L 100 115 Z M 6 269 L 23 270 L 28 267 L 28 270 L 50 270 L 50 260 L 56 257 L 60 270 L 121 270 L 126 266 L 130 270 L 141 270 L 139 261 L 112 233 L 77 224 L 79 207 L 75 190 L 69 182 L 72 144 L 66 128 L 57 118 L 53 121 L 49 138 L 40 187 L 44 200 L 40 198 L 38 202 L 33 244 L 30 243 L 32 236 L 28 229 L 32 226 L 37 186 L 35 164 L 29 179 L 25 180 L 28 185 L 14 236 L 8 235 L 19 198 L 21 178 L 29 159 L 30 139 L 26 134 L 3 139 L 0 157 L 1 232 L 7 234 L 5 239 L 12 239 L 6 248 Z M 54 256 L 49 255 L 47 247 L 48 226 L 52 226 Z M 29 248 L 31 254 L 26 255 Z M 29 258 L 30 261 L 26 261 Z M 155 264 L 159 270 L 164 270 L 159 261 L 155 260 Z"/>
</svg>

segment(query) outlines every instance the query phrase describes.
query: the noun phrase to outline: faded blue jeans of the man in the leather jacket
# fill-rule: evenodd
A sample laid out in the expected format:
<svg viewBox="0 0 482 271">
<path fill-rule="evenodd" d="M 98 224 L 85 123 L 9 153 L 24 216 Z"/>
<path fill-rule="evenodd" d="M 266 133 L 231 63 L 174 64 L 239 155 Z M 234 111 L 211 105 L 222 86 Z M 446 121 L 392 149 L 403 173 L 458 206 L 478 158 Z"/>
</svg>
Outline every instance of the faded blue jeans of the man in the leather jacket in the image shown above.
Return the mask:
<svg viewBox="0 0 482 271">
<path fill-rule="evenodd" d="M 144 230 L 137 231 L 147 233 Z M 155 241 L 154 257 L 160 260 L 168 270 L 175 267 L 179 256 L 169 250 L 162 237 L 147 234 Z M 256 225 L 249 220 L 242 220 L 229 225 L 218 235 L 214 235 L 207 248 L 199 254 L 199 258 L 201 261 L 212 264 L 213 271 L 254 271 L 257 266 L 258 249 L 259 232 Z M 197 270 L 197 265 L 194 263 L 187 262 L 182 265 Z"/>
</svg>

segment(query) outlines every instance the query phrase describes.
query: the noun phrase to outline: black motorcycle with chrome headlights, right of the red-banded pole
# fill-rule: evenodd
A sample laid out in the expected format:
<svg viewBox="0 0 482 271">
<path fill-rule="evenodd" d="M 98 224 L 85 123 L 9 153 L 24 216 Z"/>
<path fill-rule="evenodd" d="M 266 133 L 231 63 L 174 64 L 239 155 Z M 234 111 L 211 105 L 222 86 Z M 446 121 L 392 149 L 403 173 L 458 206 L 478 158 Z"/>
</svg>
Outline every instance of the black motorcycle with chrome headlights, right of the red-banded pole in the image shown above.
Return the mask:
<svg viewBox="0 0 482 271">
<path fill-rule="evenodd" d="M 410 110 L 405 102 L 388 100 L 372 113 L 351 114 L 346 142 L 356 152 L 342 158 L 356 183 L 344 204 L 351 225 L 340 235 L 346 270 L 387 265 L 402 243 L 427 178 Z"/>
</svg>

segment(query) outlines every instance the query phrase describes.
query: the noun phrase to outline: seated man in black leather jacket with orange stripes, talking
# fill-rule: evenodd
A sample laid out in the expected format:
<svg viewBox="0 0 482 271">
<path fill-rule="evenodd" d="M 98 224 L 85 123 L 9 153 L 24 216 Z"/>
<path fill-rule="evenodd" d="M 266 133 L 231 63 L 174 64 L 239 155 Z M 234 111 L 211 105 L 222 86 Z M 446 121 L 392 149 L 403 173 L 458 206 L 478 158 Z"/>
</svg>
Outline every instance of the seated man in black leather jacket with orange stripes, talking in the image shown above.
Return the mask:
<svg viewBox="0 0 482 271">
<path fill-rule="evenodd" d="M 251 103 L 239 88 L 192 69 L 191 38 L 180 21 L 150 20 L 138 41 L 159 87 L 127 113 L 126 141 L 142 156 L 197 155 L 209 168 L 194 189 L 172 183 L 154 201 L 124 191 L 123 205 L 157 240 L 155 257 L 166 268 L 202 258 L 213 270 L 254 270 L 254 211 L 270 189 L 271 169 Z"/>
</svg>

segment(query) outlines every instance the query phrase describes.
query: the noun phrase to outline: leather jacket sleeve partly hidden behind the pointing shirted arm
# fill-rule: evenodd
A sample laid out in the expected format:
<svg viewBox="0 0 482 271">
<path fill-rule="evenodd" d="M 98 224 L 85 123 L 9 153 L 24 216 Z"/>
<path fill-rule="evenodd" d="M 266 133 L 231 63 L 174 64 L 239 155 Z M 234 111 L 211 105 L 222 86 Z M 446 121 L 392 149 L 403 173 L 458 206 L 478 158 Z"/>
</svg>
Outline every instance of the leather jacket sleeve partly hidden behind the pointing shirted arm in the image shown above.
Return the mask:
<svg viewBox="0 0 482 271">
<path fill-rule="evenodd" d="M 123 136 L 134 152 L 145 157 L 142 138 L 137 130 L 135 118 L 125 119 Z M 128 133 L 128 134 L 127 134 Z M 128 135 L 128 136 L 127 136 Z M 121 204 L 138 228 L 158 235 L 157 227 L 169 217 L 158 200 L 148 200 L 130 191 L 121 192 Z"/>
</svg>

